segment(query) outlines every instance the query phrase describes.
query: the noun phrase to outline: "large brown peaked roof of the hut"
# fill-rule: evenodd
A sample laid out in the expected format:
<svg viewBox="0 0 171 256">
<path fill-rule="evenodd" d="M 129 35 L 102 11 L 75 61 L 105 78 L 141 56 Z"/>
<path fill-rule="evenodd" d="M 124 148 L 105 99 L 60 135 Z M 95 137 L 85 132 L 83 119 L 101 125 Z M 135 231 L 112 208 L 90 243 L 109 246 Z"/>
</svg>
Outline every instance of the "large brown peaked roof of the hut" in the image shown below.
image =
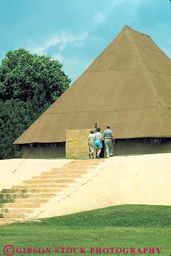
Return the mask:
<svg viewBox="0 0 171 256">
<path fill-rule="evenodd" d="M 14 144 L 66 141 L 67 129 L 110 124 L 116 138 L 171 136 L 171 61 L 124 26 L 88 69 Z"/>
</svg>

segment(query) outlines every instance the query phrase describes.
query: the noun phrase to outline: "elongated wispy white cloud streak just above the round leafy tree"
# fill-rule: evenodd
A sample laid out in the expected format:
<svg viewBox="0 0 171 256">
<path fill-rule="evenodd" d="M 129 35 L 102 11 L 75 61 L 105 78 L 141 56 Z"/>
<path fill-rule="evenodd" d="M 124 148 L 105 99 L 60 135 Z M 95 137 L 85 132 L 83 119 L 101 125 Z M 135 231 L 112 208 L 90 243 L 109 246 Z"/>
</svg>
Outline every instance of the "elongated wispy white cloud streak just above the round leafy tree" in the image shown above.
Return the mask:
<svg viewBox="0 0 171 256">
<path fill-rule="evenodd" d="M 59 46 L 59 50 L 63 50 L 67 44 L 80 45 L 83 41 L 88 38 L 88 33 L 82 32 L 77 36 L 73 36 L 73 34 L 67 33 L 66 31 L 62 31 L 59 36 L 51 37 L 49 40 L 44 42 L 41 46 L 37 46 L 31 49 L 31 52 L 37 54 L 47 54 L 47 51 L 51 46 Z"/>
</svg>

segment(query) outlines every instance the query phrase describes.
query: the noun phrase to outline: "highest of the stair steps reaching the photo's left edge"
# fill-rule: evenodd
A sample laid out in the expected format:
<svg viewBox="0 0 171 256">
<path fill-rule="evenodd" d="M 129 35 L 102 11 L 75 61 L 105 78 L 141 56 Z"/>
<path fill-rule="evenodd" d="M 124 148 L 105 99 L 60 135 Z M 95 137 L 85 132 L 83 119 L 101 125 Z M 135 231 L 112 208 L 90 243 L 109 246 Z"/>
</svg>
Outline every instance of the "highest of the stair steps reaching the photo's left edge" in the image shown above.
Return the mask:
<svg viewBox="0 0 171 256">
<path fill-rule="evenodd" d="M 1 192 L 2 193 L 46 193 L 46 192 L 61 192 L 62 190 L 60 188 L 53 188 L 53 184 L 51 184 L 51 186 L 49 187 L 30 187 L 29 185 L 27 185 L 28 188 L 4 188 Z"/>
</svg>

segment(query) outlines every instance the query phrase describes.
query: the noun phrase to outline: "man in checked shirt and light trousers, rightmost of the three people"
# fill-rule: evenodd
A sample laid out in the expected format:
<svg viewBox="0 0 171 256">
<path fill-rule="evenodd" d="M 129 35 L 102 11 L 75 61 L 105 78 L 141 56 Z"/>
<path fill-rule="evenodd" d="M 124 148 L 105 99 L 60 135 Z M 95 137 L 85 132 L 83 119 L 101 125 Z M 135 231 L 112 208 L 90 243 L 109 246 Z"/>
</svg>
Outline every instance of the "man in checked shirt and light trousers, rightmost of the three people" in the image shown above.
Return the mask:
<svg viewBox="0 0 171 256">
<path fill-rule="evenodd" d="M 104 140 L 105 140 L 105 147 L 106 147 L 106 155 L 107 155 L 107 158 L 109 158 L 109 156 L 113 156 L 113 144 L 115 143 L 114 134 L 113 134 L 113 131 L 110 130 L 110 125 L 107 125 L 107 128 L 104 131 Z"/>
</svg>

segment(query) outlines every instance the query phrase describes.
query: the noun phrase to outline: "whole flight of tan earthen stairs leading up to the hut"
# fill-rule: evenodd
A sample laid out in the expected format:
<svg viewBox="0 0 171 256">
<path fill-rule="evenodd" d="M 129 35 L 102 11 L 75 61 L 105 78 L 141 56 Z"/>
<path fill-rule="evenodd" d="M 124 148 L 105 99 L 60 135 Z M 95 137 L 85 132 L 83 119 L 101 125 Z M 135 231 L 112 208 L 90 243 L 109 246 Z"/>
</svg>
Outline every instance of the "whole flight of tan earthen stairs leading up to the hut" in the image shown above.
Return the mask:
<svg viewBox="0 0 171 256">
<path fill-rule="evenodd" d="M 104 162 L 100 160 L 73 160 L 60 168 L 52 168 L 29 180 L 23 180 L 19 186 L 3 189 L 0 192 L 0 225 L 31 220 L 34 212 L 42 204 L 57 198 L 74 183 L 86 175 L 88 170 L 96 169 Z"/>
</svg>

